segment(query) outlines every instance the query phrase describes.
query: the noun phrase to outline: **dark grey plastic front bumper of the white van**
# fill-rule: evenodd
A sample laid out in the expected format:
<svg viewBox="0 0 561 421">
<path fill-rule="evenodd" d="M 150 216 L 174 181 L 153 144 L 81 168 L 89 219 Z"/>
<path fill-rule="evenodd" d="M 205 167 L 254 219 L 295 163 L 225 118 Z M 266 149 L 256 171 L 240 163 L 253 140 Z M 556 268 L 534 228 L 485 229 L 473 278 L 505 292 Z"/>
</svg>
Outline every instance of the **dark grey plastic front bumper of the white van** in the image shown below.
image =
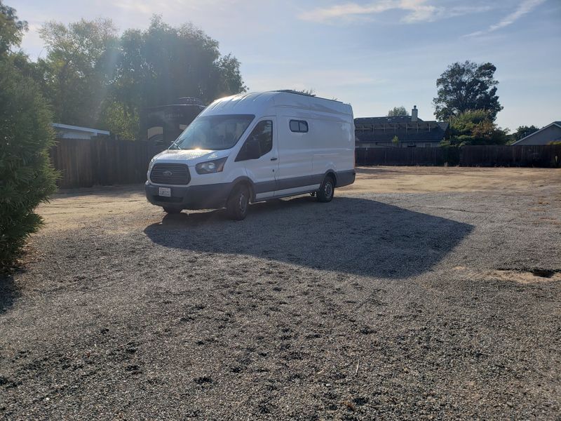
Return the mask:
<svg viewBox="0 0 561 421">
<path fill-rule="evenodd" d="M 171 190 L 171 196 L 160 196 L 160 187 L 168 187 Z M 144 189 L 148 201 L 156 206 L 182 209 L 219 209 L 226 206 L 226 201 L 231 192 L 231 183 L 180 187 L 153 185 L 147 181 Z"/>
</svg>

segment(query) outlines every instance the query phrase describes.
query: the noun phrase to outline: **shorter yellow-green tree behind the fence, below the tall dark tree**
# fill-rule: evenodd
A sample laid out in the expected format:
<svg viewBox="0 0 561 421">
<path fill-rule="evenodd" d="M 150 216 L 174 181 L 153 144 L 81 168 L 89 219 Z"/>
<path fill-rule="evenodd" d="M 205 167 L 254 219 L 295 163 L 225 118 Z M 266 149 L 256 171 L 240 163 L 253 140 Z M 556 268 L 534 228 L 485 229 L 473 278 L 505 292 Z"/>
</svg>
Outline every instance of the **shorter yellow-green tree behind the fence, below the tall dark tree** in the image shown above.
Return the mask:
<svg viewBox="0 0 561 421">
<path fill-rule="evenodd" d="M 452 117 L 450 140 L 444 145 L 505 145 L 507 141 L 508 131 L 496 126 L 490 112 L 475 109 Z"/>
</svg>

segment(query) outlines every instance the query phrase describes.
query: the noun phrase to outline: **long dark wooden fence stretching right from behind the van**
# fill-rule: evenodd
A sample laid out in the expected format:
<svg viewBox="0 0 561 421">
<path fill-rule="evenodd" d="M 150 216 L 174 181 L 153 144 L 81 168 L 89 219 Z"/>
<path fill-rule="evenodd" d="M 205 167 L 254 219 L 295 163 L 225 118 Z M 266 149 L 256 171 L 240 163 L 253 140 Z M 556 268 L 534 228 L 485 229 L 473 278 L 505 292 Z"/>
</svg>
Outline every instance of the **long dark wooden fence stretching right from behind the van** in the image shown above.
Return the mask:
<svg viewBox="0 0 561 421">
<path fill-rule="evenodd" d="M 561 145 L 357 148 L 357 165 L 561 166 Z"/>
</svg>

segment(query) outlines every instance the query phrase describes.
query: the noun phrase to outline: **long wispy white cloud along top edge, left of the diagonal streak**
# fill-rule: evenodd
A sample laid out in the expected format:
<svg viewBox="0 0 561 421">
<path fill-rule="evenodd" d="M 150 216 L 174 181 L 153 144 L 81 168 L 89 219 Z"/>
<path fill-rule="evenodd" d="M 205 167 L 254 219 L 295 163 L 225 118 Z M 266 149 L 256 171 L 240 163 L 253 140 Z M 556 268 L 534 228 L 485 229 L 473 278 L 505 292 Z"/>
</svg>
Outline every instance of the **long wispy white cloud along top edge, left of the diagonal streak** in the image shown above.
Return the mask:
<svg viewBox="0 0 561 421">
<path fill-rule="evenodd" d="M 406 12 L 401 18 L 401 22 L 415 23 L 433 22 L 468 13 L 488 11 L 489 9 L 491 9 L 491 6 L 434 6 L 428 4 L 428 0 L 379 0 L 365 5 L 345 3 L 326 8 L 315 8 L 301 13 L 298 18 L 311 22 L 333 22 L 334 20 L 352 22 L 367 20 L 372 18 L 372 15 L 396 10 Z"/>
</svg>

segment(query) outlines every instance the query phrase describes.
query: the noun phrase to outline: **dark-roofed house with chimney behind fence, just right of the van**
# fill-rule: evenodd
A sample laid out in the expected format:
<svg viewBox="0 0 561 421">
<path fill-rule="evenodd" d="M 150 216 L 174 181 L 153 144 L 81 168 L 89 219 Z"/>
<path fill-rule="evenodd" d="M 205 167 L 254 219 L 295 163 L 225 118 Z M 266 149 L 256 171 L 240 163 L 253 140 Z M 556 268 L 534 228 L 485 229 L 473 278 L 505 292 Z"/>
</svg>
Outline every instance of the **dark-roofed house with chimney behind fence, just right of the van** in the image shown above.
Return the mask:
<svg viewBox="0 0 561 421">
<path fill-rule="evenodd" d="M 449 124 L 423 121 L 418 112 L 415 105 L 411 116 L 355 119 L 356 147 L 437 147 L 448 137 Z"/>
</svg>

